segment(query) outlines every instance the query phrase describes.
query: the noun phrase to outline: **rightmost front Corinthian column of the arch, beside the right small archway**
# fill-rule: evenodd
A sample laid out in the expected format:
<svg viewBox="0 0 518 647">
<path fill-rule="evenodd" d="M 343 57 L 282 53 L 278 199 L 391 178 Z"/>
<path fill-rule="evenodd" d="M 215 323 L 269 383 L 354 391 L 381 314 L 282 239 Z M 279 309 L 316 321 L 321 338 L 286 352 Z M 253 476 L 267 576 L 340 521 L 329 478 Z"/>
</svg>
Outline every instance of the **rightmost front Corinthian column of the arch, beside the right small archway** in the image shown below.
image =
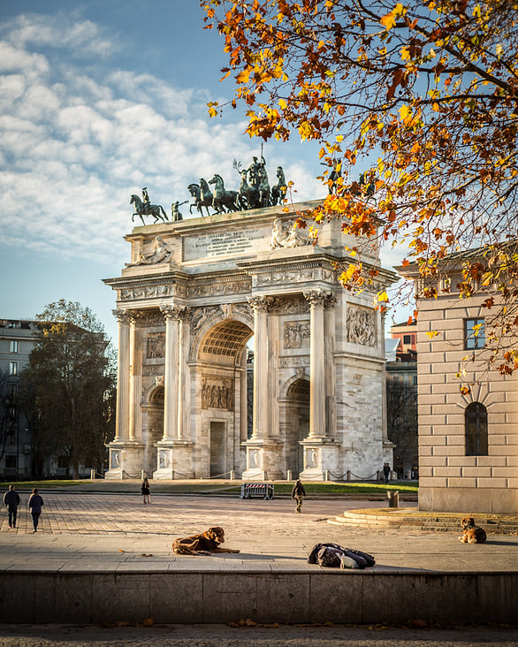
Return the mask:
<svg viewBox="0 0 518 647">
<path fill-rule="evenodd" d="M 309 290 L 304 293 L 311 308 L 309 438 L 325 437 L 324 301 L 330 294 L 324 290 Z"/>
</svg>

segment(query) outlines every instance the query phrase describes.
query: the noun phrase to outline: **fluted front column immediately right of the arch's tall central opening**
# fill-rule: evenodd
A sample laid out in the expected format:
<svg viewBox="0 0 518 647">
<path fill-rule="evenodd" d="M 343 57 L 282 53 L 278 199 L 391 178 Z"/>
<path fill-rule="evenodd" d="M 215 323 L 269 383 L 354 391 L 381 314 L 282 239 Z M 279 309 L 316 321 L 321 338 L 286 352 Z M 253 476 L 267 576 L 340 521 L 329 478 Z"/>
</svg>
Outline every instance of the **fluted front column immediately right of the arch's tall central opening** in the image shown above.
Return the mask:
<svg viewBox="0 0 518 647">
<path fill-rule="evenodd" d="M 268 297 L 248 297 L 254 308 L 254 412 L 252 438 L 268 436 Z"/>
</svg>

